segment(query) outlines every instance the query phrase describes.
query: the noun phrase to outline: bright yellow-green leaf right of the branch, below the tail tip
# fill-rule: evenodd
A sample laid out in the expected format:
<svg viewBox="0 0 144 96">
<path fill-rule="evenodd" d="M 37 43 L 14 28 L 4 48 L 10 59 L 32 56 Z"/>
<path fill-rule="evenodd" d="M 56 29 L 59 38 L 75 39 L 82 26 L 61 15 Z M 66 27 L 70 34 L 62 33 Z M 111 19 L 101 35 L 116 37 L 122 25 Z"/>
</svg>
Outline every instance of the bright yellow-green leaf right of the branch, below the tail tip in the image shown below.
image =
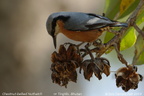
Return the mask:
<svg viewBox="0 0 144 96">
<path fill-rule="evenodd" d="M 126 50 L 136 42 L 136 33 L 133 27 L 129 28 L 120 42 L 120 51 Z"/>
</svg>

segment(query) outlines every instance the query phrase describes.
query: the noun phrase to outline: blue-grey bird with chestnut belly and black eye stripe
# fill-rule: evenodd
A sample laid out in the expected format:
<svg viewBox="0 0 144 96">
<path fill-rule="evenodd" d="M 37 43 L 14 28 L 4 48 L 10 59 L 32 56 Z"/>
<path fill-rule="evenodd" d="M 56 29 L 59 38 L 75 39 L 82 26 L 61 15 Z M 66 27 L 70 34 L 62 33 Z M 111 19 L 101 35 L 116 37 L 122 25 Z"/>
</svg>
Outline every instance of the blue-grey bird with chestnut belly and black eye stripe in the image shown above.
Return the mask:
<svg viewBox="0 0 144 96">
<path fill-rule="evenodd" d="M 104 16 L 82 12 L 57 12 L 48 17 L 46 28 L 56 48 L 56 36 L 63 33 L 68 38 L 93 42 L 111 27 L 127 27 L 127 23 L 110 20 Z"/>
</svg>

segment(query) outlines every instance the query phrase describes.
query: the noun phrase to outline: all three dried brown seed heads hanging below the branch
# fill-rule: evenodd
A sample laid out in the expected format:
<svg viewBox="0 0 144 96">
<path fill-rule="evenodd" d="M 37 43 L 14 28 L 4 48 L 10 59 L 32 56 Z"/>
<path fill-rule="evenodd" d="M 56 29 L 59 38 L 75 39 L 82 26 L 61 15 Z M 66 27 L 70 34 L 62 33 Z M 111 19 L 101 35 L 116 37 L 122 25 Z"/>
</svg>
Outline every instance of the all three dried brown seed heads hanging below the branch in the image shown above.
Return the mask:
<svg viewBox="0 0 144 96">
<path fill-rule="evenodd" d="M 79 50 L 72 44 L 69 46 L 60 45 L 58 52 L 53 52 L 51 57 L 51 78 L 53 83 L 67 87 L 69 81 L 77 81 L 77 71 L 83 70 L 84 78 L 90 81 L 94 74 L 99 80 L 102 79 L 102 74 L 106 76 L 110 74 L 110 62 L 103 57 L 86 59 L 81 56 Z M 136 73 L 136 67 L 129 65 L 118 69 L 115 74 L 117 87 L 122 87 L 124 91 L 138 88 L 139 81 L 142 81 L 142 76 Z"/>
</svg>

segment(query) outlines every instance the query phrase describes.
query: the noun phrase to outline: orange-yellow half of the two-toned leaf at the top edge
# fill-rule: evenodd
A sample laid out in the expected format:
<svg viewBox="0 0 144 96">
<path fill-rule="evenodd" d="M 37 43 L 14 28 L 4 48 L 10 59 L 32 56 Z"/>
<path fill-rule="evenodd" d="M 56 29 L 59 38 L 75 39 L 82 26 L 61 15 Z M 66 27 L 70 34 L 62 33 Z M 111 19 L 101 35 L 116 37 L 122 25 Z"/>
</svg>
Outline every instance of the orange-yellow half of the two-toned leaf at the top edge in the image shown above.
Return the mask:
<svg viewBox="0 0 144 96">
<path fill-rule="evenodd" d="M 121 0 L 120 15 L 123 14 L 135 0 Z"/>
</svg>

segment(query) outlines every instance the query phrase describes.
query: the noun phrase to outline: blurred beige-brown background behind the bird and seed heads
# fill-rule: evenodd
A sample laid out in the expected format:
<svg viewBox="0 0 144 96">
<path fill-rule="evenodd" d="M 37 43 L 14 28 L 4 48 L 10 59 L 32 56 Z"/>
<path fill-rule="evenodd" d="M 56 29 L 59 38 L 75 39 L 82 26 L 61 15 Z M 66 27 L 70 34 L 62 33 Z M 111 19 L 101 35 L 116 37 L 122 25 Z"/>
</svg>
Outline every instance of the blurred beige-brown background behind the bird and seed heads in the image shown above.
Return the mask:
<svg viewBox="0 0 144 96">
<path fill-rule="evenodd" d="M 51 13 L 74 11 L 102 14 L 105 0 L 0 0 L 0 95 L 3 93 L 35 92 L 42 96 L 144 96 L 144 82 L 137 90 L 125 93 L 115 85 L 114 72 L 102 80 L 95 76 L 91 81 L 78 74 L 77 83 L 68 88 L 51 80 L 51 53 L 56 51 L 46 31 L 46 20 Z M 73 42 L 60 34 L 57 45 Z M 132 60 L 133 48 L 125 58 Z M 105 55 L 111 62 L 111 71 L 122 65 L 116 53 Z M 139 73 L 144 66 L 139 66 Z M 71 93 L 77 95 L 70 95 Z M 61 94 L 60 94 L 61 93 Z M 62 95 L 68 93 L 67 95 Z M 137 95 L 134 95 L 137 94 Z M 32 96 L 32 95 L 31 95 Z"/>
</svg>

